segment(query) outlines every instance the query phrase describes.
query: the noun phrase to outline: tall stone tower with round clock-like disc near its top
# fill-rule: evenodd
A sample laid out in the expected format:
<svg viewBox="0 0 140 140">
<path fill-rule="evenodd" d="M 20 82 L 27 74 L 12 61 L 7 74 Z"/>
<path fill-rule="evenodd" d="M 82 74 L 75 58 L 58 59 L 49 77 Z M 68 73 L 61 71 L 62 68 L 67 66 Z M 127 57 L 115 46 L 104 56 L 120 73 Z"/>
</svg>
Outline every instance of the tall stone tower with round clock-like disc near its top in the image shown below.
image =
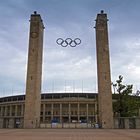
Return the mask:
<svg viewBox="0 0 140 140">
<path fill-rule="evenodd" d="M 30 18 L 24 128 L 37 128 L 40 124 L 43 30 L 41 16 L 35 11 Z"/>
</svg>

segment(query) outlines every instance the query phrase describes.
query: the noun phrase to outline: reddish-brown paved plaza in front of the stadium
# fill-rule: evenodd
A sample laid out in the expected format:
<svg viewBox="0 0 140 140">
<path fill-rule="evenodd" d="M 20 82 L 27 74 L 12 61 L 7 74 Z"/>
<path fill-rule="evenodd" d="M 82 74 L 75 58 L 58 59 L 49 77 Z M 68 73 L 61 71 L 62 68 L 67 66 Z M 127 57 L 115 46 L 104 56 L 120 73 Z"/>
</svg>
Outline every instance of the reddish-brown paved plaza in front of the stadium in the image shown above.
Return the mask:
<svg viewBox="0 0 140 140">
<path fill-rule="evenodd" d="M 140 130 L 0 129 L 0 140 L 140 140 Z"/>
</svg>

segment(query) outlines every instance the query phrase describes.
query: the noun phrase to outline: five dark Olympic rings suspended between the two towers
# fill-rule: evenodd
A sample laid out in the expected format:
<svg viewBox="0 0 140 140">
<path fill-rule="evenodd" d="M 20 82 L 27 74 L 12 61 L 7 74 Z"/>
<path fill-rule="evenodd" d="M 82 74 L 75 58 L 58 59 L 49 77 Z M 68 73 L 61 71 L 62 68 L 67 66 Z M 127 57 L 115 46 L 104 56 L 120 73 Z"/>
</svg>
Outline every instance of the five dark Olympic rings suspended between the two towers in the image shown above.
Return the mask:
<svg viewBox="0 0 140 140">
<path fill-rule="evenodd" d="M 71 38 L 66 38 L 65 40 L 62 38 L 58 38 L 56 40 L 56 43 L 58 45 L 61 45 L 61 47 L 67 47 L 68 45 L 70 47 L 76 47 L 77 45 L 81 44 L 81 39 L 80 38 L 75 38 L 72 40 Z"/>
</svg>

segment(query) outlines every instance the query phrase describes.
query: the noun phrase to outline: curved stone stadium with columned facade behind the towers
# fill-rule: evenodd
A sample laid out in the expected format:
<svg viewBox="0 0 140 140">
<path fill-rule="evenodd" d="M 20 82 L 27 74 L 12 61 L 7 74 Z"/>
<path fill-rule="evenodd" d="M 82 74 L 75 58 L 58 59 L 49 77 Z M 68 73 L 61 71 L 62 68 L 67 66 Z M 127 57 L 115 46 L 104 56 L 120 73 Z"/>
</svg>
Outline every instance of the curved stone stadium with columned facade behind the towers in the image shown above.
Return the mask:
<svg viewBox="0 0 140 140">
<path fill-rule="evenodd" d="M 41 127 L 53 127 L 51 124 L 54 123 L 66 124 L 65 127 L 75 127 L 75 123 L 89 123 L 88 127 L 91 127 L 98 118 L 96 99 L 97 94 L 93 93 L 42 94 Z M 0 98 L 0 128 L 23 128 L 24 108 L 25 95 Z"/>
</svg>

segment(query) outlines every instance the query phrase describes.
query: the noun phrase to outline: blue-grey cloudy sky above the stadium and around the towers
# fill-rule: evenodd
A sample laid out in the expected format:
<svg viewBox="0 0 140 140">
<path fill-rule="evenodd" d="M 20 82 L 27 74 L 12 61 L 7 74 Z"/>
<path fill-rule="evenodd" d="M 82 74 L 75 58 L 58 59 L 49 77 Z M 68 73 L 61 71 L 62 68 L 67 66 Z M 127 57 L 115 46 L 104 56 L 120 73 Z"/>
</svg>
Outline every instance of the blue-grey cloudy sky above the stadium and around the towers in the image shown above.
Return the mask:
<svg viewBox="0 0 140 140">
<path fill-rule="evenodd" d="M 124 76 L 140 89 L 139 0 L 0 0 L 0 96 L 25 91 L 29 18 L 44 25 L 42 92 L 97 92 L 95 19 L 108 14 L 112 81 Z M 56 39 L 80 38 L 76 48 Z"/>
</svg>

